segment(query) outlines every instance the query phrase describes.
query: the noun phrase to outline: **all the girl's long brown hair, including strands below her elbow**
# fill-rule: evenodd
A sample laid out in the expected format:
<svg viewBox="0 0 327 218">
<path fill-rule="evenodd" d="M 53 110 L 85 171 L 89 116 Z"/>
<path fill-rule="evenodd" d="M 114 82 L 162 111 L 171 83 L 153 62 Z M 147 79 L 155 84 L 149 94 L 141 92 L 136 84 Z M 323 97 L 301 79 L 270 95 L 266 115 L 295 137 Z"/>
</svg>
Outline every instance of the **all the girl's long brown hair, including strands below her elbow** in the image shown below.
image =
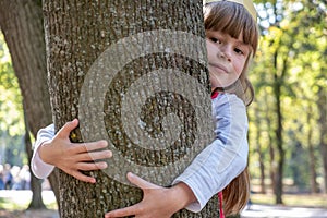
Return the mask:
<svg viewBox="0 0 327 218">
<path fill-rule="evenodd" d="M 249 106 L 254 98 L 254 90 L 247 80 L 246 72 L 258 46 L 259 34 L 256 21 L 242 4 L 229 1 L 206 4 L 204 19 L 206 29 L 220 31 L 234 38 L 239 38 L 242 35 L 243 41 L 251 46 L 251 55 L 245 62 L 240 78 L 231 86 L 223 88 L 223 92 L 235 94 Z M 222 190 L 222 194 L 223 209 L 227 215 L 238 214 L 246 206 L 250 196 L 247 167 Z"/>
</svg>

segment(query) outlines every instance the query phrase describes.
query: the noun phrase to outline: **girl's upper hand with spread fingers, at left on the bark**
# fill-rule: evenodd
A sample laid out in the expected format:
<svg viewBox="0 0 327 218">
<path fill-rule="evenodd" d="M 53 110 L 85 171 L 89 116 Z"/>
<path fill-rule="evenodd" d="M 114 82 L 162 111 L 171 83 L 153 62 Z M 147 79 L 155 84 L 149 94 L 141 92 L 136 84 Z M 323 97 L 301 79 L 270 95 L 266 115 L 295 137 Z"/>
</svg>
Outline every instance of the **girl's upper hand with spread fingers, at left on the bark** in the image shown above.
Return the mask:
<svg viewBox="0 0 327 218">
<path fill-rule="evenodd" d="M 77 119 L 66 122 L 51 141 L 45 142 L 38 148 L 38 154 L 43 161 L 60 168 L 77 180 L 95 183 L 95 178 L 85 175 L 80 170 L 88 171 L 107 168 L 105 161 L 94 162 L 94 160 L 110 158 L 112 153 L 108 149 L 98 150 L 107 147 L 106 141 L 71 143 L 70 133 L 77 125 Z"/>
</svg>

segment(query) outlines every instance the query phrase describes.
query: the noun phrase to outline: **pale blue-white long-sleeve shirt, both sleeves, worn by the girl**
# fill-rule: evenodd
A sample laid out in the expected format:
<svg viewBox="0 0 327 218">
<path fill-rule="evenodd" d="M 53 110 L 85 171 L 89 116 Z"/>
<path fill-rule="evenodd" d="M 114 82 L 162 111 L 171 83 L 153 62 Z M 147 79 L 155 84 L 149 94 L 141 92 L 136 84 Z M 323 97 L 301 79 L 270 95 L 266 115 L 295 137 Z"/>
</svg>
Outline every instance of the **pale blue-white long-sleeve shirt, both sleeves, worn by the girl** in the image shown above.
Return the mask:
<svg viewBox="0 0 327 218">
<path fill-rule="evenodd" d="M 247 161 L 247 117 L 244 104 L 232 94 L 219 94 L 213 99 L 216 138 L 202 150 L 172 184 L 184 182 L 193 191 L 196 203 L 186 208 L 199 211 L 207 202 L 240 174 Z M 39 130 L 32 158 L 32 170 L 40 179 L 47 178 L 53 166 L 44 162 L 38 147 L 55 136 L 55 125 Z"/>
</svg>

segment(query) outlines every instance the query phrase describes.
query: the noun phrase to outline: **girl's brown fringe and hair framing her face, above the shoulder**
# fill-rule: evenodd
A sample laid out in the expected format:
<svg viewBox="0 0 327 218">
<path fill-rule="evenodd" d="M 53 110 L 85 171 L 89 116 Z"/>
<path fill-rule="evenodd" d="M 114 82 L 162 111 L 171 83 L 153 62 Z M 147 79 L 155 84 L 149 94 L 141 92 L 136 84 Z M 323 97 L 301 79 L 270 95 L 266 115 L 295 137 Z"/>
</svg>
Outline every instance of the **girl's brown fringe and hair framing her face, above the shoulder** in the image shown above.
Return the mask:
<svg viewBox="0 0 327 218">
<path fill-rule="evenodd" d="M 258 46 L 259 34 L 256 21 L 242 4 L 229 1 L 207 3 L 204 8 L 204 19 L 205 29 L 220 31 L 234 38 L 242 35 L 244 44 L 250 45 L 251 55 L 239 80 L 229 87 L 223 87 L 223 92 L 235 94 L 249 106 L 253 101 L 254 90 L 246 73 Z"/>
</svg>

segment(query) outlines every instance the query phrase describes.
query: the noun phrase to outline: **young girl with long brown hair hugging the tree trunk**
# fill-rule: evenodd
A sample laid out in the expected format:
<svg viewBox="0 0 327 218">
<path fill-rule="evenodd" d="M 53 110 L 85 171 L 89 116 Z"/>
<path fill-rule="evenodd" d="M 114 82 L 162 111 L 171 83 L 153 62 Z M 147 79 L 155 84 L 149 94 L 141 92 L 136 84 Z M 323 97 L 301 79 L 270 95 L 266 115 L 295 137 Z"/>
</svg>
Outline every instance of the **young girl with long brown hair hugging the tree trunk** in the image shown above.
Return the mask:
<svg viewBox="0 0 327 218">
<path fill-rule="evenodd" d="M 245 105 L 253 99 L 246 69 L 258 41 L 255 10 L 251 0 L 210 1 L 204 8 L 204 16 L 216 140 L 173 181 L 171 187 L 161 187 L 129 173 L 128 179 L 144 191 L 143 201 L 110 211 L 106 217 L 170 217 L 182 208 L 199 211 L 221 190 L 226 214 L 238 213 L 246 205 L 249 178 L 244 168 L 249 147 Z M 82 174 L 80 170 L 107 167 L 105 162 L 88 162 L 111 156 L 109 150 L 94 152 L 105 147 L 106 142 L 70 143 L 69 133 L 76 126 L 77 120 L 74 120 L 56 135 L 53 125 L 39 131 L 32 160 L 37 177 L 47 177 L 57 166 L 80 180 L 94 183 L 94 178 Z"/>
</svg>

